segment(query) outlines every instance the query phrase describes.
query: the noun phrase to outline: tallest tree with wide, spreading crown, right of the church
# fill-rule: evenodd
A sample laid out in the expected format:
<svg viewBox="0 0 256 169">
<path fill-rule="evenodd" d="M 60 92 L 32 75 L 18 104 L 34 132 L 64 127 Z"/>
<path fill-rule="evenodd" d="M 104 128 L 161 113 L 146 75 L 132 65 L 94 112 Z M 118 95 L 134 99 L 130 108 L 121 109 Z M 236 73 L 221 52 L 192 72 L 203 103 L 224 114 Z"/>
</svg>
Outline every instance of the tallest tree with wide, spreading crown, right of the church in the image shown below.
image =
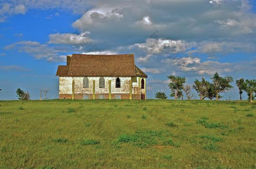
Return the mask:
<svg viewBox="0 0 256 169">
<path fill-rule="evenodd" d="M 214 91 L 216 92 L 216 100 L 219 100 L 219 93 L 225 93 L 233 88 L 233 86 L 230 85 L 230 83 L 233 81 L 231 76 L 225 76 L 223 78 L 216 72 L 211 79 L 214 85 Z"/>
</svg>

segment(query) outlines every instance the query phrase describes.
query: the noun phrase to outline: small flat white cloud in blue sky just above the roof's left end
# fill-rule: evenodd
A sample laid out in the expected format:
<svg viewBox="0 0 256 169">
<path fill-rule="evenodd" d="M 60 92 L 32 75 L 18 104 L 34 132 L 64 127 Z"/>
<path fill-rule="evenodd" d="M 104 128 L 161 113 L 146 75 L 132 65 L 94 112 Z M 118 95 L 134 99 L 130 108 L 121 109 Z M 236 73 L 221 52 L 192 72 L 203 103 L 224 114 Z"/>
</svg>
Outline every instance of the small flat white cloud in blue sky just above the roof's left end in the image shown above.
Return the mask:
<svg viewBox="0 0 256 169">
<path fill-rule="evenodd" d="M 80 34 L 74 33 L 56 33 L 49 35 L 49 42 L 53 44 L 64 44 L 64 45 L 88 45 L 91 43 L 91 39 L 88 37 L 89 32 L 83 32 Z"/>
</svg>

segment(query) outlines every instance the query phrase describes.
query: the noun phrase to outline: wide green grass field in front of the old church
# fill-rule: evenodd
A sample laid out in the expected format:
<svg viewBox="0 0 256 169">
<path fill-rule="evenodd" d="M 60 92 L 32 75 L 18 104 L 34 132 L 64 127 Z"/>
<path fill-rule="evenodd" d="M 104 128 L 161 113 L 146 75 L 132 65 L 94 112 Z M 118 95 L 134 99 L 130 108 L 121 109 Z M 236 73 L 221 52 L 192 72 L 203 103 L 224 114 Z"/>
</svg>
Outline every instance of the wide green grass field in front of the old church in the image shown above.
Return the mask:
<svg viewBox="0 0 256 169">
<path fill-rule="evenodd" d="M 0 101 L 0 168 L 256 168 L 256 104 Z"/>
</svg>

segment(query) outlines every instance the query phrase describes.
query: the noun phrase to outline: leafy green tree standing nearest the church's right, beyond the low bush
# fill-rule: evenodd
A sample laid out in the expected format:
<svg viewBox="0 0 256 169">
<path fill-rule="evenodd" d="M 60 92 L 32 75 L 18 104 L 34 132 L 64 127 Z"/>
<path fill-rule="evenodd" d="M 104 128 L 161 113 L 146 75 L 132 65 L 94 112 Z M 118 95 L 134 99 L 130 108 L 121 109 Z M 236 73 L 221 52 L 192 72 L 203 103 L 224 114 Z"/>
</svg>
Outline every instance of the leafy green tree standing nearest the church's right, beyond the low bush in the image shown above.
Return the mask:
<svg viewBox="0 0 256 169">
<path fill-rule="evenodd" d="M 171 89 L 172 93 L 170 94 L 171 97 L 174 97 L 175 100 L 177 98 L 180 98 L 182 94 L 183 84 L 186 81 L 185 77 L 179 77 L 179 76 L 167 76 L 170 79 L 170 83 L 168 84 L 169 88 Z M 181 92 L 181 94 L 180 94 Z"/>
</svg>

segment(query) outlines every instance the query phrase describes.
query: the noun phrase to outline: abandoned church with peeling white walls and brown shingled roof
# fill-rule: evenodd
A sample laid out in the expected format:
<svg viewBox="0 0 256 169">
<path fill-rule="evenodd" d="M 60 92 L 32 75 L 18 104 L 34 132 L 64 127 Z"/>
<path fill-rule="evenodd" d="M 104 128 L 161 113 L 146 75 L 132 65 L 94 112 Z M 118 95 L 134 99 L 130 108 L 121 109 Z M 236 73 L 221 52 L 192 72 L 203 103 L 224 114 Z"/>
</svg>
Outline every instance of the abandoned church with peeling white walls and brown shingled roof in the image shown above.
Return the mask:
<svg viewBox="0 0 256 169">
<path fill-rule="evenodd" d="M 147 75 L 133 54 L 67 55 L 56 76 L 60 99 L 146 99 Z"/>
</svg>

